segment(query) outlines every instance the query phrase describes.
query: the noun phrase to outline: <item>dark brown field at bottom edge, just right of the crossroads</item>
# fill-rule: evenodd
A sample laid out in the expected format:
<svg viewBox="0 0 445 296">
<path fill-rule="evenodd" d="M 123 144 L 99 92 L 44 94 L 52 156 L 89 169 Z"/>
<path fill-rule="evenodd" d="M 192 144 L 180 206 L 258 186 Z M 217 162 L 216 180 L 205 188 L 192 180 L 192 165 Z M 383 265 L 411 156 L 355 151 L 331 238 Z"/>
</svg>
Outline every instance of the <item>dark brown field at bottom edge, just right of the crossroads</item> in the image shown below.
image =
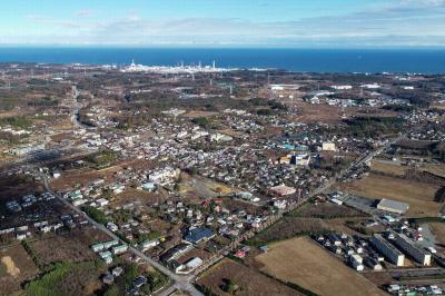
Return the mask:
<svg viewBox="0 0 445 296">
<path fill-rule="evenodd" d="M 198 278 L 197 283 L 211 288 L 217 295 L 230 295 L 220 289 L 224 279 L 233 279 L 240 286 L 241 290 L 237 295 L 301 295 L 286 285 L 263 275 L 258 270 L 230 259 L 222 259 L 210 267 Z"/>
</svg>

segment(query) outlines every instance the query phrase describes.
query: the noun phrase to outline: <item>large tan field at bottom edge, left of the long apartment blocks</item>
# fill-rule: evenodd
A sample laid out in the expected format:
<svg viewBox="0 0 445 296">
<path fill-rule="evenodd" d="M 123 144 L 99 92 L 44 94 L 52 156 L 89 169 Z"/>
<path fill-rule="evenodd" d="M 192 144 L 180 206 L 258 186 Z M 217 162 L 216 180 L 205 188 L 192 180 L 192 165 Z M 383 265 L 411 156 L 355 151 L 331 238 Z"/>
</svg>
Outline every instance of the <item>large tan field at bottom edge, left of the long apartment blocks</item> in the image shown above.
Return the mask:
<svg viewBox="0 0 445 296">
<path fill-rule="evenodd" d="M 385 295 L 308 237 L 274 244 L 256 260 L 263 272 L 319 295 Z"/>
</svg>

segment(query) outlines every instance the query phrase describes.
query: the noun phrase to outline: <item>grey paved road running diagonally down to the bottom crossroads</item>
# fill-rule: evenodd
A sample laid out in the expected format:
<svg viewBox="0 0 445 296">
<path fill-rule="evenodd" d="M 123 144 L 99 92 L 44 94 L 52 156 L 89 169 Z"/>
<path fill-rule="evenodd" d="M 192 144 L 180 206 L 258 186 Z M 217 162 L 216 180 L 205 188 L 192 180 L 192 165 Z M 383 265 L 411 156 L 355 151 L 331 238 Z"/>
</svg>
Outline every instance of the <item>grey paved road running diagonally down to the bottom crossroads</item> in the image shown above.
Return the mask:
<svg viewBox="0 0 445 296">
<path fill-rule="evenodd" d="M 123 240 L 121 240 L 118 236 L 116 236 L 112 231 L 110 231 L 107 227 L 105 227 L 103 225 L 97 223 L 96 220 L 93 220 L 92 218 L 90 218 L 88 215 L 86 215 L 82 210 L 80 210 L 78 207 L 75 207 L 71 203 L 69 203 L 67 199 L 65 199 L 63 197 L 61 197 L 59 194 L 55 193 L 51 190 L 51 187 L 49 185 L 49 180 L 48 177 L 46 175 L 42 176 L 43 177 L 43 182 L 44 182 L 44 188 L 47 189 L 48 193 L 51 193 L 52 195 L 55 195 L 60 201 L 62 201 L 67 207 L 69 207 L 70 209 L 72 209 L 73 211 L 78 213 L 79 215 L 83 215 L 86 217 L 86 219 L 93 225 L 97 229 L 101 230 L 102 233 L 106 233 L 107 235 L 109 235 L 112 239 L 117 239 L 119 240 L 121 244 L 126 244 Z M 181 289 L 184 292 L 188 292 L 190 295 L 197 295 L 200 296 L 202 295 L 199 290 L 197 290 L 195 288 L 195 286 L 191 284 L 191 282 L 194 280 L 192 276 L 178 276 L 177 274 L 172 273 L 170 269 L 168 269 L 167 267 L 165 267 L 164 265 L 159 264 L 158 262 L 151 259 L 150 257 L 148 257 L 147 255 L 145 255 L 144 253 L 141 253 L 140 250 L 138 250 L 135 247 L 129 246 L 129 251 L 131 251 L 134 255 L 137 255 L 138 257 L 142 258 L 147 264 L 156 267 L 157 269 L 159 269 L 160 272 L 162 272 L 164 274 L 168 275 L 172 280 L 174 280 L 174 285 L 162 292 L 160 292 L 160 295 L 169 295 L 171 293 L 175 292 L 175 289 Z"/>
</svg>

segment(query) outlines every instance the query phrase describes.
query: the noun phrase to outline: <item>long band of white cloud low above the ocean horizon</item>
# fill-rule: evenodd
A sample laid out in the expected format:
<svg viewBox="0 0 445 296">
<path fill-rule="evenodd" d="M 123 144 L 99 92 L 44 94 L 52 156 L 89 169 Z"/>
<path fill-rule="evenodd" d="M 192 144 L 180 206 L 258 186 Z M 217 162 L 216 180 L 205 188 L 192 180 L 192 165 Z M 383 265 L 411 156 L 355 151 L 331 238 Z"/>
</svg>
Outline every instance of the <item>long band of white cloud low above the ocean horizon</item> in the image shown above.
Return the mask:
<svg viewBox="0 0 445 296">
<path fill-rule="evenodd" d="M 98 20 L 90 18 L 92 12 L 87 10 L 77 11 L 79 18 L 71 20 L 44 16 L 28 16 L 28 19 L 37 27 L 53 28 L 47 34 L 40 30 L 39 43 L 445 47 L 445 0 L 395 1 L 398 2 L 339 17 L 283 22 L 236 18 L 152 20 L 135 11 L 121 18 Z M 3 36 L 2 40 L 12 42 L 20 38 L 34 40 L 31 33 Z"/>
</svg>

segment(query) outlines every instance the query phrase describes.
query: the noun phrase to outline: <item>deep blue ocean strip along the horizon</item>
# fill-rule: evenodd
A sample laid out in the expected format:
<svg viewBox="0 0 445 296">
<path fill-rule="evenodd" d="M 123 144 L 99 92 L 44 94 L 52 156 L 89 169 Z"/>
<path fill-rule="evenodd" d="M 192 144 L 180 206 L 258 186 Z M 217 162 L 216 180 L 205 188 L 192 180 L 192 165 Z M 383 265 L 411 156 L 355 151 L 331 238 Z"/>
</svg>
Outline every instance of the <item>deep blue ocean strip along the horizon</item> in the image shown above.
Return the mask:
<svg viewBox="0 0 445 296">
<path fill-rule="evenodd" d="M 445 73 L 444 49 L 0 48 L 0 62 L 279 68 L 306 72 Z"/>
</svg>

